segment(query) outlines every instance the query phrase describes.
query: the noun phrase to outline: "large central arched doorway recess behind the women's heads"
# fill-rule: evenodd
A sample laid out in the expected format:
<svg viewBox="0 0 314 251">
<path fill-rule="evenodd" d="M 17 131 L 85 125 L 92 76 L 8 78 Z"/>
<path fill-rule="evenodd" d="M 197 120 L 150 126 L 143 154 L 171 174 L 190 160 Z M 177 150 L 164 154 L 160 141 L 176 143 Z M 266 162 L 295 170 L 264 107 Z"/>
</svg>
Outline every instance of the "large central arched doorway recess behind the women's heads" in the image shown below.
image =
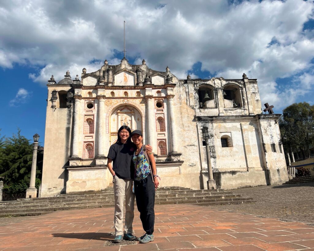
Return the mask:
<svg viewBox="0 0 314 251">
<path fill-rule="evenodd" d="M 110 145 L 116 142 L 117 133 L 122 125 L 127 125 L 131 130 L 142 130 L 142 115 L 130 105 L 119 106 L 110 116 Z"/>
</svg>

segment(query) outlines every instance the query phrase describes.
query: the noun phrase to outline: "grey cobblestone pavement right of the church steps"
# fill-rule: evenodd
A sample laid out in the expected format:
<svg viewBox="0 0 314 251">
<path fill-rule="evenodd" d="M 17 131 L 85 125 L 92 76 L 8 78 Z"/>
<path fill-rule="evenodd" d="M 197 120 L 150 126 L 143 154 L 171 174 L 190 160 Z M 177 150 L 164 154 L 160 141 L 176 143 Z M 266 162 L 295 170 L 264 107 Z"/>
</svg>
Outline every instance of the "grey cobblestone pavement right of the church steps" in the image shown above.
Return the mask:
<svg viewBox="0 0 314 251">
<path fill-rule="evenodd" d="M 257 202 L 209 208 L 314 224 L 314 183 L 260 186 L 230 191 L 252 197 Z"/>
</svg>

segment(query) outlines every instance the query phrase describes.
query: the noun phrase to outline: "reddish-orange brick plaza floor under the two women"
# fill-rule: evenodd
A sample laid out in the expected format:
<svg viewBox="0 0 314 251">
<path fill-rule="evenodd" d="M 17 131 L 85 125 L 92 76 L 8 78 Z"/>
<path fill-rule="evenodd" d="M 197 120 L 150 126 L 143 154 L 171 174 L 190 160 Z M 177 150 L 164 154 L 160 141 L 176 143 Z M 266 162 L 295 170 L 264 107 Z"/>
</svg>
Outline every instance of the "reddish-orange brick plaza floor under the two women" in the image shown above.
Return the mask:
<svg viewBox="0 0 314 251">
<path fill-rule="evenodd" d="M 111 207 L 56 211 L 0 226 L 0 250 L 314 250 L 314 226 L 305 223 L 187 204 L 156 205 L 155 213 L 154 242 L 147 244 L 112 246 Z M 143 234 L 137 210 L 133 229 Z"/>
</svg>

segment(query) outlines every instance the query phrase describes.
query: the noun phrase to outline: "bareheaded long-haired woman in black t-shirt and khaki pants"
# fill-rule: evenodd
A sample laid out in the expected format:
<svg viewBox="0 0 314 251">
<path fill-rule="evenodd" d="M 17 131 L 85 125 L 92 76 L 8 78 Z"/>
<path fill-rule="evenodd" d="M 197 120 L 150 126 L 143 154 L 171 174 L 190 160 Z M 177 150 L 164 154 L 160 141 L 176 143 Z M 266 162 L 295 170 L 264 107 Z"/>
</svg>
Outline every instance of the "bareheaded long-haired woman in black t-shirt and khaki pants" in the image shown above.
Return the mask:
<svg viewBox="0 0 314 251">
<path fill-rule="evenodd" d="M 118 130 L 117 142 L 112 144 L 108 152 L 107 166 L 113 176 L 113 188 L 115 193 L 115 214 L 114 225 L 116 237 L 114 243 L 122 241 L 123 233 L 123 201 L 125 197 L 125 226 L 123 239 L 135 240 L 133 232 L 134 218 L 134 194 L 132 192 L 132 183 L 134 178 L 134 165 L 132 156 L 136 146 L 131 142 L 131 129 L 122 125 Z M 147 146 L 152 150 L 152 147 Z M 113 161 L 113 166 L 112 166 Z"/>
</svg>

